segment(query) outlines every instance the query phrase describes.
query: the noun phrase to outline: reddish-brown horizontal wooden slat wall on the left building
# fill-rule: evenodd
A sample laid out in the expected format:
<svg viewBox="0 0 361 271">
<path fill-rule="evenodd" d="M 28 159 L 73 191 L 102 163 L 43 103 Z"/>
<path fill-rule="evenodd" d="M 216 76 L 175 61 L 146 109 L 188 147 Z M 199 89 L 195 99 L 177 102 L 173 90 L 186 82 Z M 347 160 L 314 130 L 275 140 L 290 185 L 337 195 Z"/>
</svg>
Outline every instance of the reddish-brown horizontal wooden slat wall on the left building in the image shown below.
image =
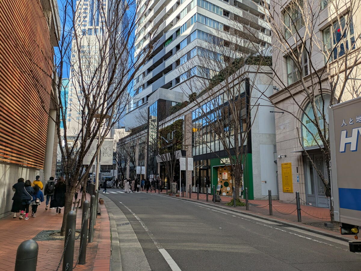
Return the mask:
<svg viewBox="0 0 361 271">
<path fill-rule="evenodd" d="M 40 0 L 0 1 L 0 161 L 43 168 L 52 61 Z"/>
</svg>

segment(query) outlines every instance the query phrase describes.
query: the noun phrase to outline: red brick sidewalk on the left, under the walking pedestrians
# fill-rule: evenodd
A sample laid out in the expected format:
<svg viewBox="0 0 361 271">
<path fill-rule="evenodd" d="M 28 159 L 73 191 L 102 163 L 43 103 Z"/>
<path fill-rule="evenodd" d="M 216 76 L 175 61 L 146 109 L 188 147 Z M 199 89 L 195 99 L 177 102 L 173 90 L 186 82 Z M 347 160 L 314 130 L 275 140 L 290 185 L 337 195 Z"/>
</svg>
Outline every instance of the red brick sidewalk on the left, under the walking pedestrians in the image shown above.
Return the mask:
<svg viewBox="0 0 361 271">
<path fill-rule="evenodd" d="M 81 194 L 79 194 L 81 196 Z M 87 199 L 90 196 L 87 194 Z M 101 216 L 98 216 L 94 239 L 88 243 L 85 265 L 77 265 L 74 270 L 108 270 L 110 268 L 110 224 L 108 212 L 104 205 L 100 205 Z M 30 210 L 31 212 L 31 210 Z M 38 207 L 36 217 L 30 216 L 29 220 L 19 220 L 13 215 L 0 219 L 0 271 L 14 270 L 16 250 L 25 240 L 34 238 L 42 230 L 59 230 L 63 213 L 57 214 L 56 210 L 45 211 L 45 201 Z M 77 213 L 77 229 L 81 228 L 82 209 Z M 36 241 L 39 245 L 37 271 L 54 271 L 60 261 L 64 240 Z M 74 265 L 78 259 L 80 238 L 75 240 Z M 62 270 L 62 264 L 59 270 Z"/>
</svg>

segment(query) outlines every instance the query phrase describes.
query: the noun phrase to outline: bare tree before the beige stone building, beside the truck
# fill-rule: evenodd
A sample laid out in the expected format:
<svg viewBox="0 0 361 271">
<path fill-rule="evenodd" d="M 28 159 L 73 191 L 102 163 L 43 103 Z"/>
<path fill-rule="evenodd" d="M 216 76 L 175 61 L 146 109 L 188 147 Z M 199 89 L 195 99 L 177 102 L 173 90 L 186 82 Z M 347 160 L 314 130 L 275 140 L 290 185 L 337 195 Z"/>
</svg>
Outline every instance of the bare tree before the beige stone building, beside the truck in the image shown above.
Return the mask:
<svg viewBox="0 0 361 271">
<path fill-rule="evenodd" d="M 264 6 L 273 33 L 274 81 L 295 109 L 290 110 L 277 99 L 271 102 L 297 121 L 300 146 L 322 180 L 328 198 L 331 197 L 331 153 L 327 107 L 359 96 L 360 84 L 352 79 L 357 76 L 361 60 L 361 33 L 354 27 L 359 12 L 360 1 L 354 0 L 321 3 L 292 0 L 286 6 L 273 0 Z M 320 26 L 320 22 L 326 23 Z M 284 62 L 287 77 L 283 72 Z M 321 151 L 325 171 L 311 158 L 308 151 L 311 146 Z M 334 221 L 330 202 L 330 218 Z"/>
</svg>

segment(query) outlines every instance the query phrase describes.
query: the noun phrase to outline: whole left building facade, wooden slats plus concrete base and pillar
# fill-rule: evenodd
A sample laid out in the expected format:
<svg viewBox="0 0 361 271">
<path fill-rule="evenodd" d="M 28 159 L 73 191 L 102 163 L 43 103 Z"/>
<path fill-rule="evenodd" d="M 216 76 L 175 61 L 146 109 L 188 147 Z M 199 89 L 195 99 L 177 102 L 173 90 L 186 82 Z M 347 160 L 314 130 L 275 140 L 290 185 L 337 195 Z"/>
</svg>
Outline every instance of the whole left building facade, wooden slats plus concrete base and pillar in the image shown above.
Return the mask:
<svg viewBox="0 0 361 271">
<path fill-rule="evenodd" d="M 1 218 L 11 210 L 18 178 L 44 181 L 55 174 L 51 76 L 59 17 L 56 1 L 1 2 L 0 13 Z"/>
</svg>

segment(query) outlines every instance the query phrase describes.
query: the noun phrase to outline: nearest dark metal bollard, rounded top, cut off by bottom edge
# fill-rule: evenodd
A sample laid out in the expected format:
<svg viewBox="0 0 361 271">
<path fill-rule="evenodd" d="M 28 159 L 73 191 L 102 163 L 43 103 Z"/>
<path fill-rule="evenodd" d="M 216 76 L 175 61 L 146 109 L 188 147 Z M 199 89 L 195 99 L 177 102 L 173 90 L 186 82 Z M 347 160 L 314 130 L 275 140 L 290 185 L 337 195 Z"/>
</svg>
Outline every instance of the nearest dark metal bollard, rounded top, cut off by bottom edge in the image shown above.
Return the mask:
<svg viewBox="0 0 361 271">
<path fill-rule="evenodd" d="M 16 250 L 15 271 L 36 271 L 38 243 L 34 240 L 23 241 Z"/>
</svg>

